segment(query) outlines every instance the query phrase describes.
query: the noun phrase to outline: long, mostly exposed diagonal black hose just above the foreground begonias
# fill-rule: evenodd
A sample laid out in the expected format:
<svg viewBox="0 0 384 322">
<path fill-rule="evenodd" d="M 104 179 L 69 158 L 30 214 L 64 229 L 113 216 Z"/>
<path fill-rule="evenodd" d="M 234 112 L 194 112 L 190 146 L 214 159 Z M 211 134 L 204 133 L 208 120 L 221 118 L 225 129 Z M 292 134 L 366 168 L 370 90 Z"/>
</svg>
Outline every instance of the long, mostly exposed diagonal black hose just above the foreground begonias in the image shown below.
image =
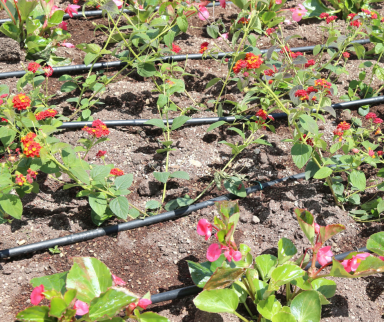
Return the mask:
<svg viewBox="0 0 384 322">
<path fill-rule="evenodd" d="M 286 176 L 280 179 L 272 180 L 269 182 L 264 182 L 261 184 L 261 187 L 262 189 L 264 189 L 265 187 L 271 186 L 278 182 L 282 182 L 288 179 L 302 179 L 304 177 L 305 177 L 305 173 L 294 174 L 294 175 Z M 253 193 L 258 190 L 260 190 L 260 185 L 254 185 L 245 189 L 247 195 L 249 193 Z M 13 257 L 13 256 L 22 255 L 22 254 L 27 254 L 33 251 L 51 248 L 51 247 L 54 247 L 55 245 L 61 246 L 66 244 L 74 244 L 76 242 L 81 242 L 81 241 L 93 239 L 93 238 L 104 236 L 104 235 L 116 234 L 119 231 L 134 229 L 138 227 L 144 227 L 151 224 L 176 219 L 176 218 L 185 216 L 191 213 L 192 211 L 196 211 L 208 206 L 212 206 L 214 205 L 214 201 L 233 200 L 237 198 L 238 197 L 236 195 L 227 193 L 207 201 L 198 202 L 196 204 L 182 207 L 180 209 L 176 209 L 173 211 L 167 211 L 167 212 L 163 212 L 150 217 L 145 217 L 144 219 L 136 219 L 136 220 L 114 224 L 114 225 L 106 226 L 102 228 L 96 228 L 96 229 L 91 229 L 87 231 L 77 232 L 77 233 L 73 233 L 73 234 L 59 237 L 59 238 L 53 238 L 53 239 L 34 242 L 31 244 L 22 245 L 18 247 L 3 249 L 3 250 L 0 250 L 0 258 L 7 258 L 7 257 Z"/>
</svg>

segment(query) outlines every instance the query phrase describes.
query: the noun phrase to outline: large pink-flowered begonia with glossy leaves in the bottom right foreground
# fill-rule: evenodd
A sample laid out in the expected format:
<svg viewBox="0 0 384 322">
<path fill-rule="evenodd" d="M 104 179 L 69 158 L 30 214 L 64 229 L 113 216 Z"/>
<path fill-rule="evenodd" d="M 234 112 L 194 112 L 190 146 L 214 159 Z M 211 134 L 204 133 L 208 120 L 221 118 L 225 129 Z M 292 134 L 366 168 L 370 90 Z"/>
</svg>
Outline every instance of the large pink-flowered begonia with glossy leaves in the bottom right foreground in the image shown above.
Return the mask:
<svg viewBox="0 0 384 322">
<path fill-rule="evenodd" d="M 215 204 L 219 215 L 213 222 L 200 219 L 197 233 L 205 235 L 205 240 L 215 238 L 217 243 L 207 248 L 208 261 L 188 261 L 193 282 L 203 288 L 193 300 L 201 310 L 233 313 L 245 322 L 320 321 L 321 306 L 330 303 L 337 287 L 326 277 L 356 278 L 384 271 L 384 232 L 367 241 L 374 254 L 352 251 L 339 261 L 333 257 L 331 246 L 324 243 L 345 227 L 320 226 L 309 211 L 296 208 L 298 224 L 308 238 L 304 252 L 297 253 L 293 242 L 284 237 L 278 241 L 277 256 L 253 258 L 251 249 L 236 245 L 233 238 L 240 216 L 237 203 Z M 237 312 L 240 303 L 250 318 Z M 256 315 L 249 303 L 255 306 Z"/>
</svg>

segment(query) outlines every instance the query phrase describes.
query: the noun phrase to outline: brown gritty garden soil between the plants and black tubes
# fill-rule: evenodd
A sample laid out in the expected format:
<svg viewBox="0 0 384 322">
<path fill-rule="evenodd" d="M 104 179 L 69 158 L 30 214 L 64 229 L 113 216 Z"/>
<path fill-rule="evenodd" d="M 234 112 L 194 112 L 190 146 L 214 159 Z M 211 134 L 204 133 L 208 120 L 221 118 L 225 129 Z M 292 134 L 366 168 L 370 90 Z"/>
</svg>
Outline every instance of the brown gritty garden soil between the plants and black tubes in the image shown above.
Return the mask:
<svg viewBox="0 0 384 322">
<path fill-rule="evenodd" d="M 65 3 L 64 3 L 65 4 Z M 67 4 L 67 3 L 66 3 Z M 286 7 L 292 7 L 295 1 L 290 1 Z M 377 4 L 379 12 L 383 12 Z M 226 27 L 230 19 L 236 17 L 234 6 L 227 5 L 224 10 L 216 7 L 215 18 L 222 18 Z M 209 8 L 211 16 L 213 9 Z M 4 17 L 0 12 L 0 17 Z M 289 11 L 286 13 L 290 15 Z M 93 24 L 105 23 L 101 18 L 70 19 L 68 31 L 72 33 L 70 42 L 102 43 L 103 35 L 99 31 L 93 33 Z M 224 51 L 229 48 L 219 39 L 207 36 L 205 22 L 197 17 L 190 19 L 189 25 L 198 28 L 189 28 L 187 34 L 181 34 L 175 40 L 182 51 L 181 53 L 198 52 L 203 41 L 209 42 L 209 47 L 216 43 Z M 290 46 L 314 45 L 321 42 L 321 28 L 324 21 L 317 19 L 293 22 L 290 25 L 281 25 L 284 35 L 299 34 L 302 38 L 292 38 Z M 345 28 L 345 23 L 340 23 L 340 30 Z M 98 37 L 98 38 L 96 38 Z M 96 38 L 96 39 L 95 39 Z M 0 38 L 4 43 L 5 52 L 0 55 L 0 71 L 21 69 L 24 63 L 22 50 L 15 49 L 14 43 L 5 37 Z M 259 39 L 259 48 L 268 48 L 269 40 L 266 37 Z M 366 49 L 372 45 L 365 45 Z M 59 48 L 59 55 L 72 57 L 73 63 L 82 63 L 84 54 L 76 48 Z M 307 54 L 311 57 L 310 53 Z M 327 55 L 324 55 L 324 59 Z M 104 61 L 116 60 L 105 56 Z M 369 59 L 366 59 L 369 60 Z M 374 60 L 370 60 L 374 62 Z M 352 53 L 346 64 L 348 75 L 341 75 L 337 80 L 338 93 L 332 102 L 339 102 L 340 95 L 347 92 L 350 80 L 358 79 L 358 65 L 361 60 Z M 200 108 L 196 113 L 189 113 L 191 117 L 215 116 L 211 111 L 212 105 L 208 100 L 217 97 L 221 87 L 217 83 L 205 90 L 206 83 L 214 77 L 224 77 L 227 66 L 214 60 L 188 60 L 178 63 L 186 66 L 186 71 L 195 77 L 185 76 L 186 89 L 191 97 L 198 103 L 205 103 L 209 108 Z M 25 65 L 25 63 L 24 63 Z M 382 62 L 379 62 L 383 66 Z M 115 71 L 105 70 L 108 75 Z M 323 74 L 326 76 L 326 74 Z M 367 79 L 370 77 L 367 71 Z M 16 78 L 2 80 L 12 92 L 16 92 Z M 78 95 L 77 93 L 62 93 L 59 91 L 62 82 L 58 76 L 49 78 L 48 90 L 57 95 L 51 104 L 56 105 L 59 112 L 70 115 L 73 105 L 66 102 L 67 98 Z M 381 83 L 374 77 L 372 87 L 377 89 Z M 92 109 L 93 118 L 107 119 L 135 119 L 158 117 L 156 110 L 157 93 L 153 91 L 151 79 L 143 78 L 135 73 L 124 72 L 117 81 L 109 85 L 107 90 L 100 95 L 104 105 Z M 235 84 L 226 88 L 226 99 L 239 102 L 243 94 L 238 92 Z M 177 94 L 172 100 L 180 107 L 187 108 L 193 102 L 184 94 Z M 232 105 L 224 105 L 224 113 L 229 112 Z M 371 107 L 371 111 L 384 118 L 384 106 Z M 172 113 L 169 117 L 177 116 Z M 349 120 L 357 116 L 356 111 L 351 113 L 337 111 L 336 117 L 326 116 L 326 123 L 320 124 L 324 132 L 324 139 L 330 144 L 332 131 L 338 122 Z M 285 120 L 275 121 L 273 125 L 276 133 L 260 131 L 264 139 L 272 143 L 268 146 L 252 146 L 235 159 L 227 172 L 247 174 L 247 186 L 255 184 L 254 181 L 269 181 L 275 178 L 302 172 L 292 162 L 290 156 L 290 143 L 281 142 L 290 138 L 289 128 Z M 238 142 L 240 137 L 235 132 L 216 128 L 206 132 L 208 125 L 183 126 L 173 131 L 171 139 L 175 142 L 176 150 L 170 153 L 170 171 L 187 171 L 190 180 L 171 179 L 167 184 L 165 201 L 182 197 L 188 194 L 197 196 L 212 180 L 215 170 L 223 167 L 231 157 L 230 148 L 219 144 L 220 140 Z M 63 142 L 75 145 L 76 142 L 86 137 L 84 131 L 62 130 L 56 136 Z M 93 148 L 87 161 L 100 164 L 95 158 L 98 149 L 106 150 L 106 161 L 115 164 L 125 173 L 133 173 L 134 180 L 131 186 L 129 201 L 143 209 L 146 201 L 160 200 L 162 187 L 153 177 L 153 170 L 164 170 L 164 156 L 156 153 L 160 147 L 158 139 L 162 139 L 161 131 L 153 127 L 116 127 L 110 129 L 109 141 L 101 143 L 98 148 Z M 376 170 L 369 166 L 361 166 L 368 179 L 376 179 Z M 67 178 L 63 175 L 61 180 Z M 54 181 L 44 173 L 39 173 L 37 181 L 40 192 L 29 194 L 22 198 L 23 215 L 20 220 L 14 219 L 9 224 L 0 225 L 0 247 L 5 249 L 19 244 L 29 244 L 50 238 L 56 238 L 71 233 L 95 228 L 90 219 L 90 207 L 86 198 L 76 198 L 78 190 L 70 188 L 62 190 L 63 183 Z M 377 191 L 370 189 L 362 195 L 362 200 L 371 198 Z M 208 189 L 202 200 L 225 193 L 216 187 Z M 320 225 L 341 223 L 345 225 L 344 232 L 332 237 L 326 242 L 332 246 L 334 253 L 339 253 L 365 246 L 366 240 L 372 233 L 382 230 L 381 223 L 363 224 L 355 222 L 348 211 L 343 211 L 335 206 L 329 190 L 321 180 L 286 181 L 266 188 L 263 191 L 252 193 L 239 200 L 240 221 L 235 233 L 235 242 L 246 243 L 251 247 L 253 256 L 270 253 L 277 255 L 277 241 L 281 237 L 291 239 L 298 254 L 302 254 L 308 246 L 308 241 L 301 233 L 297 220 L 293 214 L 294 207 L 307 208 L 316 217 Z M 351 207 L 346 210 L 352 209 Z M 154 224 L 148 227 L 122 231 L 116 235 L 103 236 L 92 240 L 59 247 L 60 254 L 51 254 L 49 251 L 17 256 L 0 260 L 0 319 L 13 321 L 15 314 L 30 305 L 29 294 L 32 290 L 29 280 L 33 277 L 43 276 L 56 272 L 66 271 L 72 264 L 73 256 L 94 256 L 103 261 L 112 273 L 127 282 L 126 287 L 131 291 L 143 295 L 147 291 L 151 294 L 176 289 L 193 282 L 190 278 L 186 260 L 204 261 L 207 247 L 214 240 L 205 241 L 196 233 L 196 224 L 200 218 L 213 220 L 217 214 L 214 207 L 198 210 L 185 217 L 173 221 Z M 117 219 L 105 222 L 104 225 L 118 223 Z M 321 322 L 329 321 L 364 321 L 378 322 L 382 320 L 384 312 L 384 280 L 380 274 L 359 279 L 333 278 L 337 284 L 334 297 L 329 305 L 324 305 L 321 312 Z M 283 294 L 277 294 L 282 296 Z M 238 321 L 234 315 L 207 313 L 196 309 L 193 305 L 193 296 L 162 302 L 151 305 L 149 308 L 169 318 L 172 322 L 205 322 L 205 321 Z M 42 302 L 44 304 L 44 301 Z M 246 311 L 239 305 L 239 310 L 246 316 Z"/>
</svg>

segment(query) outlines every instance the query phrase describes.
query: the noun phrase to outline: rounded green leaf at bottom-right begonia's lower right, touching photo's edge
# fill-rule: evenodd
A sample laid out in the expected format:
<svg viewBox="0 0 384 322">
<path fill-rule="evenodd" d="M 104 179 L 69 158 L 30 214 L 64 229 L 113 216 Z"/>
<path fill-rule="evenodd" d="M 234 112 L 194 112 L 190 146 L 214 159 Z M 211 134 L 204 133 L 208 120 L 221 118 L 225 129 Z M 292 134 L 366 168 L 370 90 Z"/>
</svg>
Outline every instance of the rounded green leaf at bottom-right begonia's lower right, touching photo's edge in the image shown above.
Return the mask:
<svg viewBox="0 0 384 322">
<path fill-rule="evenodd" d="M 320 296 L 315 290 L 306 290 L 296 295 L 290 311 L 297 322 L 319 322 L 321 317 Z"/>
</svg>

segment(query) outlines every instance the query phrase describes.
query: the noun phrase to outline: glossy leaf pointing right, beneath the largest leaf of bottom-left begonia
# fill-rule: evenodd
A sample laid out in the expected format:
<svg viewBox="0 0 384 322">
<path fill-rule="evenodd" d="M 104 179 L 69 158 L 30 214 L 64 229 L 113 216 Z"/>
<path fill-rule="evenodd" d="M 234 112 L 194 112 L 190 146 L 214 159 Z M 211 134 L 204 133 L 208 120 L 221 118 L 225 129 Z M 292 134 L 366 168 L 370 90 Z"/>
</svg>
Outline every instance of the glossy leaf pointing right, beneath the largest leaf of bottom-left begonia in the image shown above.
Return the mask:
<svg viewBox="0 0 384 322">
<path fill-rule="evenodd" d="M 134 302 L 137 297 L 124 287 L 111 287 L 93 298 L 89 305 L 89 318 L 97 320 L 101 317 L 112 317 L 125 306 Z"/>
</svg>

